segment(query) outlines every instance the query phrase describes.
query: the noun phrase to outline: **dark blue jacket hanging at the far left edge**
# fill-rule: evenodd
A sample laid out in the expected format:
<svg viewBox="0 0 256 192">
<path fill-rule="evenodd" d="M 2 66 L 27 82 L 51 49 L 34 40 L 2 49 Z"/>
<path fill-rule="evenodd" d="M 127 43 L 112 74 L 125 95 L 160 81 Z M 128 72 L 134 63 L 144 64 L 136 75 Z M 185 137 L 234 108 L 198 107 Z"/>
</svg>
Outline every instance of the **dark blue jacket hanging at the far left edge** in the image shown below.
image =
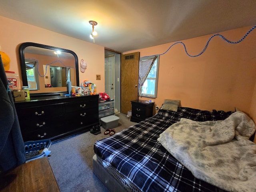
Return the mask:
<svg viewBox="0 0 256 192">
<path fill-rule="evenodd" d="M 25 163 L 25 147 L 0 55 L 0 172 Z"/>
</svg>

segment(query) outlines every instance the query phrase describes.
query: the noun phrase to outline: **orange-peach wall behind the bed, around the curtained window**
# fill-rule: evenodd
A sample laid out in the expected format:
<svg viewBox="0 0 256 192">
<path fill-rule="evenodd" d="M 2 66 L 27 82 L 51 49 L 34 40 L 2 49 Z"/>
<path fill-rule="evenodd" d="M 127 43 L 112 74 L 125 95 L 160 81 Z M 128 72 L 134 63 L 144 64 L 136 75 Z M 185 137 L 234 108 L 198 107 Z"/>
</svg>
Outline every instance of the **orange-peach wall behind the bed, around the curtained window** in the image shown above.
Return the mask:
<svg viewBox="0 0 256 192">
<path fill-rule="evenodd" d="M 252 27 L 221 32 L 230 41 L 240 40 Z M 199 54 L 212 35 L 182 40 L 190 55 Z M 140 56 L 164 53 L 172 44 L 125 52 L 140 52 Z M 189 57 L 182 44 L 176 44 L 160 56 L 158 93 L 154 99 L 161 106 L 164 99 L 179 99 L 181 106 L 202 110 L 234 111 L 235 107 L 255 116 L 251 110 L 256 98 L 256 29 L 242 42 L 229 44 L 215 36 L 206 51 Z M 140 98 L 148 100 L 148 98 Z M 256 106 L 256 103 L 254 103 Z M 254 107 L 255 108 L 255 107 Z M 253 112 L 253 114 L 252 114 Z"/>
</svg>

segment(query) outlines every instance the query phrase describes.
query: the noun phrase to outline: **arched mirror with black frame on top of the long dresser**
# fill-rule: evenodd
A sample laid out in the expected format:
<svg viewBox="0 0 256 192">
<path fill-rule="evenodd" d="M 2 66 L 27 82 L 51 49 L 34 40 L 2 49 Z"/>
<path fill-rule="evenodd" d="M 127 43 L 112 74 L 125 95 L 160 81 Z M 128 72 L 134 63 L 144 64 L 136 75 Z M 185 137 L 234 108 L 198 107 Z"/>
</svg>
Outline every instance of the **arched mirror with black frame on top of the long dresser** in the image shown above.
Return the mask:
<svg viewBox="0 0 256 192">
<path fill-rule="evenodd" d="M 78 57 L 67 49 L 22 43 L 19 48 L 23 86 L 30 94 L 66 93 L 66 82 L 79 86 Z"/>
</svg>

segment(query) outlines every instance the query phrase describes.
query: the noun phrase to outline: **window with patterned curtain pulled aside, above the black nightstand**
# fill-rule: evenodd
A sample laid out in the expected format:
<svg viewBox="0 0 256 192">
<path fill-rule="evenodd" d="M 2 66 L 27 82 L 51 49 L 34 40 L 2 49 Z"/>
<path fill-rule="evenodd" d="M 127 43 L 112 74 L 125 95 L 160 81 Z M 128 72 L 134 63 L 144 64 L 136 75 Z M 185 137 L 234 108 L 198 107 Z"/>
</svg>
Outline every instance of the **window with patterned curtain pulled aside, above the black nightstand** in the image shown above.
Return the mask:
<svg viewBox="0 0 256 192">
<path fill-rule="evenodd" d="M 159 55 L 140 58 L 139 96 L 156 98 L 158 85 L 158 68 Z"/>
</svg>

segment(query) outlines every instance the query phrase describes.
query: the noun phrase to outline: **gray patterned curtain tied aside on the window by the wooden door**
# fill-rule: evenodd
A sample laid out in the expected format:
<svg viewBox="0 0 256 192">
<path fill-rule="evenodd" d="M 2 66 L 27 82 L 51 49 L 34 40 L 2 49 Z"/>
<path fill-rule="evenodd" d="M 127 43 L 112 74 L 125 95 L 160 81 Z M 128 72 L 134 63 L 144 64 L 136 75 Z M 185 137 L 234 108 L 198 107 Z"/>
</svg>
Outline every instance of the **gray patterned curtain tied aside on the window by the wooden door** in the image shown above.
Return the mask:
<svg viewBox="0 0 256 192">
<path fill-rule="evenodd" d="M 147 76 L 156 60 L 157 56 L 148 60 L 140 60 L 139 62 L 139 83 L 138 83 L 138 95 L 141 97 L 142 86 L 147 79 Z"/>
</svg>

